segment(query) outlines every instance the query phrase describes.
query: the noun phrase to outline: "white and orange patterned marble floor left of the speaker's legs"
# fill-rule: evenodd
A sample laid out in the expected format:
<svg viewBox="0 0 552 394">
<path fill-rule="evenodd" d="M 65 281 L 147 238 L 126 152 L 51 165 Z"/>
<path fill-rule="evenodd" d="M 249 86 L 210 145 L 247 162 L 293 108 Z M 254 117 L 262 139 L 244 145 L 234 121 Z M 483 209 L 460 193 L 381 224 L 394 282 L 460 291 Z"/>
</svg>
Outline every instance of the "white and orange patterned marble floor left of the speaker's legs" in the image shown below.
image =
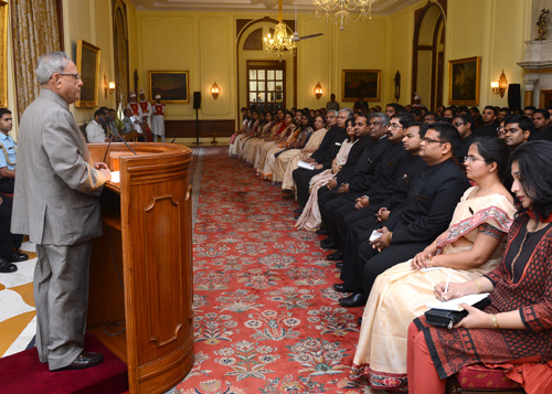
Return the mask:
<svg viewBox="0 0 552 394">
<path fill-rule="evenodd" d="M 0 274 L 0 356 L 28 348 L 36 332 L 33 273 L 36 264 L 34 244 L 25 242 L 20 248 L 29 260 L 18 263 L 18 270 Z"/>
</svg>

